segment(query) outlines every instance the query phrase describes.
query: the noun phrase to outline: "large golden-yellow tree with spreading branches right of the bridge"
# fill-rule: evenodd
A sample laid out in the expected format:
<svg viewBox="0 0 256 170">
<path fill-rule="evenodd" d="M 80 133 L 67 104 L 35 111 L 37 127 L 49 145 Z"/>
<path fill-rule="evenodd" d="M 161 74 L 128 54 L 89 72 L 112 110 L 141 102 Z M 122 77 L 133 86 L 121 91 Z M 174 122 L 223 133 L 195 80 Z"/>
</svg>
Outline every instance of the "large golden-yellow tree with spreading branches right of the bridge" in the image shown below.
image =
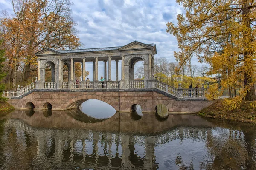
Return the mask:
<svg viewBox="0 0 256 170">
<path fill-rule="evenodd" d="M 168 22 L 166 31 L 177 38 L 180 51 L 174 56 L 179 64 L 186 65 L 196 56 L 199 62 L 210 65 L 209 73 L 219 74 L 222 71 L 221 81 L 213 91 L 235 85 L 242 73 L 244 88 L 236 99 L 256 100 L 256 2 L 177 0 L 177 3 L 185 8 L 186 15 L 177 16 L 177 26 Z M 225 42 L 219 46 L 221 50 L 216 48 L 215 42 L 219 40 Z"/>
</svg>

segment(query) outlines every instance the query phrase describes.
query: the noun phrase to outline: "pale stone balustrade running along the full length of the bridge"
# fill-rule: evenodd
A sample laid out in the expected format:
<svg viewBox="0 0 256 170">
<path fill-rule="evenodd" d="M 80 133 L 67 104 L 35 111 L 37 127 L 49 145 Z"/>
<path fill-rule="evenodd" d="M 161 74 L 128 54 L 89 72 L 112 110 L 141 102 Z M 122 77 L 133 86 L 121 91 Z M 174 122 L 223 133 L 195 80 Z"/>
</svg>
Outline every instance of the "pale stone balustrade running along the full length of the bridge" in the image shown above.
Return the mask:
<svg viewBox="0 0 256 170">
<path fill-rule="evenodd" d="M 178 98 L 205 98 L 206 88 L 182 88 L 179 84 L 179 88 L 172 87 L 163 82 L 157 80 L 148 80 L 147 85 L 144 84 L 144 80 L 131 80 L 128 84 L 124 84 L 125 81 L 94 81 L 94 82 L 33 82 L 24 88 L 20 89 L 18 85 L 17 90 L 5 90 L 3 91 L 3 97 L 11 98 L 18 97 L 28 93 L 32 89 L 119 89 L 119 88 L 156 88 L 160 91 L 164 91 L 167 94 Z M 208 83 L 209 86 L 209 83 Z M 202 85 L 203 87 L 203 85 Z M 208 88 L 208 87 L 207 87 Z"/>
</svg>

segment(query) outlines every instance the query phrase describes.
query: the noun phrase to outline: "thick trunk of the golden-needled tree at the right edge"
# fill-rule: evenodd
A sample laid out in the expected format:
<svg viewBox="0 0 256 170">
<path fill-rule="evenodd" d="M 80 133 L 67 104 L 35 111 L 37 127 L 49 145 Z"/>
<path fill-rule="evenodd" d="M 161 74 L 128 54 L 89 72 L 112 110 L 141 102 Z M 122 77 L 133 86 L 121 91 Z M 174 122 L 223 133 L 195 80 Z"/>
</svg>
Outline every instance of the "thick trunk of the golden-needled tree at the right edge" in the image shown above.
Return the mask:
<svg viewBox="0 0 256 170">
<path fill-rule="evenodd" d="M 246 88 L 247 94 L 244 97 L 245 100 L 256 100 L 255 88 L 254 88 L 254 66 L 253 54 L 251 51 L 251 46 L 253 43 L 252 29 L 251 29 L 251 19 L 250 19 L 250 2 L 249 0 L 243 0 L 243 44 L 244 44 L 244 88 Z"/>
</svg>

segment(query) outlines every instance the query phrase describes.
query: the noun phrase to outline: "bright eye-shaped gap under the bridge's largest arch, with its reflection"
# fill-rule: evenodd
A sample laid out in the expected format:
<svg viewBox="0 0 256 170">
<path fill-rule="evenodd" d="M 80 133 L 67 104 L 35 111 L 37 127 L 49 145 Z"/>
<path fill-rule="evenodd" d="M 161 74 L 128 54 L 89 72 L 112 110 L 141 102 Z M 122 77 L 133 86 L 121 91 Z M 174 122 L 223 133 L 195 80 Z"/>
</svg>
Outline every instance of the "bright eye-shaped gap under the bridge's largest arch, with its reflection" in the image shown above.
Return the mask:
<svg viewBox="0 0 256 170">
<path fill-rule="evenodd" d="M 116 113 L 116 109 L 108 103 L 97 99 L 85 99 L 78 102 L 79 109 L 94 119 L 108 119 Z"/>
</svg>

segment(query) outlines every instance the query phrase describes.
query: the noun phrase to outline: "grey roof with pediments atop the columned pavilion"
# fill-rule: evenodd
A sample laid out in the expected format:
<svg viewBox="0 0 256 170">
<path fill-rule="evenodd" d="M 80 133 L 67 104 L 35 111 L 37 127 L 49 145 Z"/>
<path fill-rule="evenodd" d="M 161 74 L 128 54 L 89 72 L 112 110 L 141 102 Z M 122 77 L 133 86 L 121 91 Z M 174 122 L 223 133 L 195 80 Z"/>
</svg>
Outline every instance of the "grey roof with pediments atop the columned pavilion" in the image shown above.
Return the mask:
<svg viewBox="0 0 256 170">
<path fill-rule="evenodd" d="M 141 43 L 141 42 L 138 42 L 138 41 L 134 41 L 134 42 L 131 42 L 127 45 L 118 46 L 118 47 L 86 48 L 86 49 L 76 49 L 76 50 L 55 50 L 53 48 L 48 48 L 47 47 L 47 48 L 44 48 L 41 51 L 38 51 L 37 53 L 35 53 L 35 55 L 38 55 L 38 54 L 40 55 L 40 54 L 42 54 L 42 52 L 44 52 L 46 50 L 49 50 L 49 51 L 52 51 L 52 52 L 55 52 L 55 53 L 58 53 L 58 54 L 83 53 L 83 52 L 93 52 L 93 51 L 113 51 L 113 50 L 121 50 L 121 49 L 125 48 L 126 46 L 130 46 L 132 44 L 145 45 L 145 47 L 148 46 L 150 48 L 154 48 L 154 51 L 157 54 L 157 49 L 156 49 L 155 44 L 144 44 L 144 43 Z"/>
</svg>

